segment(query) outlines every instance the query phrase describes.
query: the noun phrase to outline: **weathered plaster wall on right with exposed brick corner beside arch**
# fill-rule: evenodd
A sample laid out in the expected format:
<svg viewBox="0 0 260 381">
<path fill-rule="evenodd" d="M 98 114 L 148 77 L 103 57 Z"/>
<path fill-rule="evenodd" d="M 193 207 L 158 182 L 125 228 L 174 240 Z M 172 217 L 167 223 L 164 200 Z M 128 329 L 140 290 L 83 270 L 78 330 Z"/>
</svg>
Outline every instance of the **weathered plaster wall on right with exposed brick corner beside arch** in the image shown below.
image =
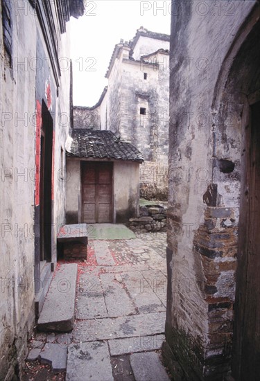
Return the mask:
<svg viewBox="0 0 260 381">
<path fill-rule="evenodd" d="M 232 348 L 242 105 L 218 108 L 214 91 L 256 1 L 203 3 L 174 1 L 172 11 L 164 356 L 189 380 L 220 380 Z"/>
</svg>

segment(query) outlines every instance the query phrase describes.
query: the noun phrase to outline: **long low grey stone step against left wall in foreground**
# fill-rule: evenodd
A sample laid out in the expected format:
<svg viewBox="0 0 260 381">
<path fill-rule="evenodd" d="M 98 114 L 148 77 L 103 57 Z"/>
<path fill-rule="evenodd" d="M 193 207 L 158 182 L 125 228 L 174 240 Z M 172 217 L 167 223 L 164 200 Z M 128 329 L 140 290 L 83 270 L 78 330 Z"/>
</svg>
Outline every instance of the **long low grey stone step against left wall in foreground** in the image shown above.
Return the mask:
<svg viewBox="0 0 260 381">
<path fill-rule="evenodd" d="M 77 281 L 76 263 L 56 269 L 37 322 L 40 331 L 69 332 L 73 328 Z"/>
</svg>

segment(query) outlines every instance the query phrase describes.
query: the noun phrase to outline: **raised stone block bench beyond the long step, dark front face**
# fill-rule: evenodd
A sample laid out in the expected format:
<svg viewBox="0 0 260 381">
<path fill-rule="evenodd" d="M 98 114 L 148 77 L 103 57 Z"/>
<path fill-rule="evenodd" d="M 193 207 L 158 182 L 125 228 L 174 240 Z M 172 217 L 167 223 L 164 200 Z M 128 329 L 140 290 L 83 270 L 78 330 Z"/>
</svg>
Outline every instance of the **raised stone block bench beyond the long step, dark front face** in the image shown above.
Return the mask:
<svg viewBox="0 0 260 381">
<path fill-rule="evenodd" d="M 64 259 L 87 259 L 87 224 L 63 225 L 57 241 Z"/>
</svg>

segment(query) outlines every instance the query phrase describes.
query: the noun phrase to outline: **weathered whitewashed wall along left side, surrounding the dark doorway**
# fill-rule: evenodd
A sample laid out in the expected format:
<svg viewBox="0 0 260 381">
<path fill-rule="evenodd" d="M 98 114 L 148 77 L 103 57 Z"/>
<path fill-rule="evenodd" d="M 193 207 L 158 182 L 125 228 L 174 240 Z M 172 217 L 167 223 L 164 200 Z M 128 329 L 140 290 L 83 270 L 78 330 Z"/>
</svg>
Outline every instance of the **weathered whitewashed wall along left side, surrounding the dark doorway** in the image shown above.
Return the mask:
<svg viewBox="0 0 260 381">
<path fill-rule="evenodd" d="M 35 245 L 37 238 L 40 239 L 35 233 L 40 231 L 40 222 L 37 220 L 40 208 L 35 202 L 35 189 L 39 189 L 35 155 L 40 156 L 40 145 L 35 144 L 35 127 L 41 116 L 35 114 L 36 100 L 39 105 L 42 101 L 49 105 L 53 121 L 53 175 L 49 181 L 53 194 L 51 260 L 54 263 L 56 232 L 60 224 L 64 223 L 65 194 L 61 167 L 64 166 L 64 143 L 69 131 L 69 68 L 65 70 L 62 67 L 57 91 L 52 68 L 48 66 L 49 53 L 35 10 L 29 1 L 24 1 L 19 10 L 17 2 L 7 3 L 10 5 L 12 20 L 11 61 L 3 46 L 2 22 L 0 26 L 0 379 L 6 381 L 12 379 L 14 371 L 18 377 L 21 375 L 27 340 L 35 323 L 35 282 L 40 285 L 39 277 L 35 278 L 35 256 L 40 251 L 40 247 Z M 54 3 L 51 4 L 52 8 L 53 6 Z M 59 31 L 58 20 L 54 21 L 56 30 Z M 60 36 L 58 33 L 57 39 L 58 57 L 68 57 L 66 35 Z M 46 83 L 50 85 L 51 96 L 48 99 Z M 48 149 L 46 147 L 46 154 L 50 153 Z"/>
</svg>

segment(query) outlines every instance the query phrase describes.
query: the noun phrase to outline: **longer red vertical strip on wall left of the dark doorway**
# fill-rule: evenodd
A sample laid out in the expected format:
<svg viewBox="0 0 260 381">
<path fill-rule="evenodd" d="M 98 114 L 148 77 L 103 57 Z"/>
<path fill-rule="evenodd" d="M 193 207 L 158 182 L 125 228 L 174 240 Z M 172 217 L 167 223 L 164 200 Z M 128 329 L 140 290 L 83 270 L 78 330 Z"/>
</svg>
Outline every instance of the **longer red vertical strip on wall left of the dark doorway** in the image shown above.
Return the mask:
<svg viewBox="0 0 260 381">
<path fill-rule="evenodd" d="M 40 205 L 40 159 L 41 159 L 41 127 L 42 105 L 36 100 L 36 141 L 35 141 L 35 206 Z"/>
</svg>

